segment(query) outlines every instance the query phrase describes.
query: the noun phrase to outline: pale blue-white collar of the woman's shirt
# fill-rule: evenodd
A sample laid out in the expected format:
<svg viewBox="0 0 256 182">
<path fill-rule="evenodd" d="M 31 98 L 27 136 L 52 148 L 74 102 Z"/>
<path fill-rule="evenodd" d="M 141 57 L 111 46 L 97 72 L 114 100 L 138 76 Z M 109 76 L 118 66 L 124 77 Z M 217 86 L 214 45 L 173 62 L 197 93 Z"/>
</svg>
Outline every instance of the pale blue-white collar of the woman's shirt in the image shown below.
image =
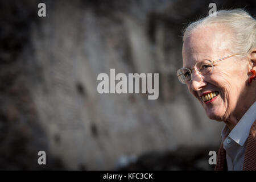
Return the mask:
<svg viewBox="0 0 256 182">
<path fill-rule="evenodd" d="M 228 137 L 232 138 L 236 143 L 240 144 L 240 146 L 243 146 L 249 136 L 251 126 L 253 125 L 255 119 L 256 102 L 254 102 L 254 104 L 250 106 L 246 113 L 243 114 L 243 117 L 240 119 L 240 121 L 231 132 L 226 125 L 224 126 L 221 131 L 222 142 L 224 142 L 226 135 L 228 135 L 228 133 L 230 132 Z"/>
</svg>

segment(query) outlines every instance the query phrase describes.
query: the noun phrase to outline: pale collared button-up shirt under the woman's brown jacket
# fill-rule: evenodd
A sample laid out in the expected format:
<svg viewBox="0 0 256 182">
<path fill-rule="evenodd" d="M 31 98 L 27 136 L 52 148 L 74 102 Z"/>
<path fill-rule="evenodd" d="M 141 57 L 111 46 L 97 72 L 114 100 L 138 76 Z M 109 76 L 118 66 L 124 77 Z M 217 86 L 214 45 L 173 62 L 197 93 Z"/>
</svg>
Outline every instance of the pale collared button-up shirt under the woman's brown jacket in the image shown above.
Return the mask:
<svg viewBox="0 0 256 182">
<path fill-rule="evenodd" d="M 256 119 L 256 102 L 250 106 L 232 131 L 225 125 L 221 132 L 229 171 L 241 171 L 245 158 L 246 142 Z M 228 135 L 228 137 L 227 137 Z"/>
</svg>

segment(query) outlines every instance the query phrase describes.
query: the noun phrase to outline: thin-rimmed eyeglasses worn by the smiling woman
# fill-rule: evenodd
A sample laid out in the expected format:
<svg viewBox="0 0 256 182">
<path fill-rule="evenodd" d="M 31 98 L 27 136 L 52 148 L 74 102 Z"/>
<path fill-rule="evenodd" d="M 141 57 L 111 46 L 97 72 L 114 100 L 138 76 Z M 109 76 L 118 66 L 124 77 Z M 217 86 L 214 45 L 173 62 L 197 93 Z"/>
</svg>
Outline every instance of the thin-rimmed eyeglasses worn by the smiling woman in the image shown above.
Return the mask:
<svg viewBox="0 0 256 182">
<path fill-rule="evenodd" d="M 196 63 L 196 65 L 193 69 L 195 69 L 196 72 L 199 72 L 200 75 L 205 76 L 205 75 L 208 75 L 209 73 L 213 72 L 214 63 L 217 63 L 218 61 L 222 61 L 224 59 L 228 59 L 229 57 L 232 57 L 235 55 L 238 55 L 238 53 L 231 55 L 231 56 L 223 57 L 223 58 L 215 60 L 215 61 L 210 61 L 210 60 L 199 61 Z M 188 84 L 188 82 L 190 82 L 192 80 L 192 70 L 193 69 L 180 68 L 177 71 L 177 78 L 179 79 L 181 84 Z"/>
</svg>

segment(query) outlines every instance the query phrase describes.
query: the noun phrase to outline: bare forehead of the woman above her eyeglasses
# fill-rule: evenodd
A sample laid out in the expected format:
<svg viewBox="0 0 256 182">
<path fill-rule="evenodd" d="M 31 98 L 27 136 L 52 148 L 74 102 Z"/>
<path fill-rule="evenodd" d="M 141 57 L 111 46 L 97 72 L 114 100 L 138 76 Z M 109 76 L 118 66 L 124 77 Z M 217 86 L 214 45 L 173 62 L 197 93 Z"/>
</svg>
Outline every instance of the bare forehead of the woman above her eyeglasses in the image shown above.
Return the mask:
<svg viewBox="0 0 256 182">
<path fill-rule="evenodd" d="M 196 28 L 184 40 L 183 66 L 192 67 L 203 59 L 216 60 L 226 56 L 232 49 L 232 32 L 221 24 Z"/>
</svg>

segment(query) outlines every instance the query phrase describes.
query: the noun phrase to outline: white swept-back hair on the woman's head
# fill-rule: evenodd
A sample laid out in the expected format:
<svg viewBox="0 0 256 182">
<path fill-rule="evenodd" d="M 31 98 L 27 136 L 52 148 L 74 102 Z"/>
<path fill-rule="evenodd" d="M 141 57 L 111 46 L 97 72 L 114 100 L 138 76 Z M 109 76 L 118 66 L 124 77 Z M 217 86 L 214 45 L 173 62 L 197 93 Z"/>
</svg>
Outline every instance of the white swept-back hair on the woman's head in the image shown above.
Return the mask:
<svg viewBox="0 0 256 182">
<path fill-rule="evenodd" d="M 216 13 L 216 16 L 207 16 L 189 24 L 184 30 L 183 42 L 196 28 L 223 23 L 233 32 L 234 53 L 246 55 L 251 49 L 256 48 L 255 18 L 242 9 L 220 10 Z"/>
</svg>

